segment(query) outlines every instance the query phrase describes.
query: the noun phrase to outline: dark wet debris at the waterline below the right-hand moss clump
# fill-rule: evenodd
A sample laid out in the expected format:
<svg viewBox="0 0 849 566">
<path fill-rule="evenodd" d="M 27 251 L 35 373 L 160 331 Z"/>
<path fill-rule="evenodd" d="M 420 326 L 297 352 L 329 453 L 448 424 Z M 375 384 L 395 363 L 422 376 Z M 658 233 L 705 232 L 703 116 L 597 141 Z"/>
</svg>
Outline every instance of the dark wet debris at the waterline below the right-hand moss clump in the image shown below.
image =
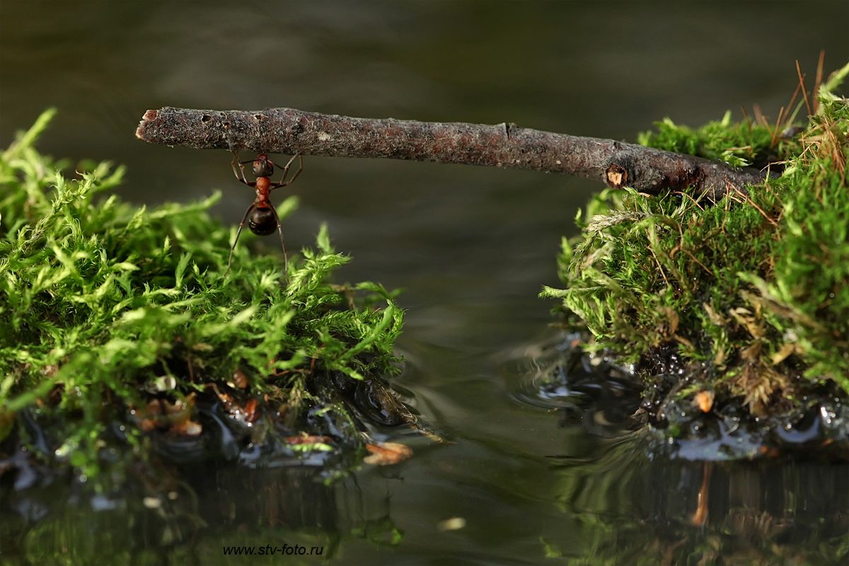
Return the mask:
<svg viewBox="0 0 849 566">
<path fill-rule="evenodd" d="M 554 409 L 562 425 L 595 436 L 637 435 L 652 457 L 728 461 L 796 453 L 849 461 L 849 405 L 834 392 L 801 400 L 805 405 L 795 412 L 756 417 L 741 399 L 717 403 L 703 374 L 687 373 L 668 352 L 658 365 L 628 373 L 610 352 L 585 347 L 592 340 L 566 334 L 535 348 L 517 370 L 514 397 Z"/>
</svg>

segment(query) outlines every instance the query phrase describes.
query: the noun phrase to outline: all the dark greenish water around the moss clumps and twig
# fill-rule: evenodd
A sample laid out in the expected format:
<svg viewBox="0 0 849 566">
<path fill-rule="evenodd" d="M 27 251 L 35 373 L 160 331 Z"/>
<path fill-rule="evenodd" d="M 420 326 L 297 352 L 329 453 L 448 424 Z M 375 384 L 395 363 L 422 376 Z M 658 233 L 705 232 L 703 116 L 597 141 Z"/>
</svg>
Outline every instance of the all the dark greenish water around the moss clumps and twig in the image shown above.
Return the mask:
<svg viewBox="0 0 849 566">
<path fill-rule="evenodd" d="M 821 48 L 827 68 L 846 61 L 847 16 L 846 3 L 817 2 L 6 0 L 0 145 L 57 106 L 44 151 L 127 164 L 122 193 L 139 203 L 222 188 L 216 213 L 236 222 L 250 194 L 228 154 L 139 142 L 145 109 L 290 106 L 633 140 L 665 115 L 695 125 L 760 104 L 774 117 L 795 59 L 811 76 Z M 42 552 L 290 563 L 222 556 L 223 544 L 284 542 L 353 564 L 846 559 L 846 465 L 669 460 L 593 417 L 614 401 L 581 416 L 517 393 L 553 335 L 553 305 L 537 292 L 557 283 L 559 238 L 598 188 L 531 171 L 307 159 L 290 248 L 326 221 L 354 256 L 344 277 L 406 289 L 399 383 L 453 444 L 405 436 L 413 459 L 329 486 L 304 468 L 192 468 L 193 489 L 175 486 L 177 499 L 153 510 L 143 493 L 92 500 L 54 482 L 3 503 L 0 563 Z M 694 520 L 700 496 L 707 514 Z M 464 527 L 444 530 L 450 518 Z"/>
</svg>

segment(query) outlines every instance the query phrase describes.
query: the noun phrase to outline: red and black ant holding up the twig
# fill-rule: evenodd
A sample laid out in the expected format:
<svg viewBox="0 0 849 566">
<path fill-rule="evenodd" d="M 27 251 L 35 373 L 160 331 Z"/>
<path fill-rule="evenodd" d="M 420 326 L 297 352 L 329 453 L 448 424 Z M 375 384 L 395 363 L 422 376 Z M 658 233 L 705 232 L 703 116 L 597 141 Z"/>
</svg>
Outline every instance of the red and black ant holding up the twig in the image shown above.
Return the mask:
<svg viewBox="0 0 849 566">
<path fill-rule="evenodd" d="M 289 181 L 286 181 L 286 175 L 289 174 L 289 167 L 295 161 L 295 158 L 298 159 L 298 171 L 295 171 L 295 175 Z M 252 164 L 256 181 L 245 179 L 245 163 Z M 256 188 L 256 200 L 248 207 L 248 210 L 245 210 L 245 216 L 242 216 L 242 221 L 239 222 L 239 231 L 236 232 L 236 239 L 233 240 L 233 247 L 230 248 L 227 271 L 224 272 L 224 275 L 226 276 L 230 272 L 230 263 L 233 261 L 233 250 L 236 249 L 236 243 L 239 242 L 239 234 L 242 233 L 242 228 L 245 227 L 245 221 L 247 220 L 250 232 L 255 233 L 257 236 L 267 236 L 277 228 L 280 234 L 280 247 L 283 248 L 284 273 L 288 279 L 289 257 L 286 255 L 286 244 L 283 241 L 283 227 L 280 226 L 280 218 L 277 216 L 277 210 L 274 209 L 274 205 L 271 204 L 271 200 L 268 197 L 275 188 L 287 187 L 301 175 L 301 171 L 304 170 L 304 160 L 301 158 L 301 154 L 292 155 L 291 159 L 283 166 L 283 177 L 280 177 L 279 182 L 272 182 L 271 180 L 271 176 L 274 174 L 274 162 L 268 159 L 268 154 L 258 154 L 255 160 L 239 161 L 239 154 L 233 151 L 233 161 L 230 162 L 230 165 L 233 167 L 233 175 L 236 176 L 237 181 L 244 182 L 248 187 Z M 237 166 L 239 167 L 238 169 L 236 168 Z M 248 216 L 250 216 L 250 219 Z"/>
</svg>

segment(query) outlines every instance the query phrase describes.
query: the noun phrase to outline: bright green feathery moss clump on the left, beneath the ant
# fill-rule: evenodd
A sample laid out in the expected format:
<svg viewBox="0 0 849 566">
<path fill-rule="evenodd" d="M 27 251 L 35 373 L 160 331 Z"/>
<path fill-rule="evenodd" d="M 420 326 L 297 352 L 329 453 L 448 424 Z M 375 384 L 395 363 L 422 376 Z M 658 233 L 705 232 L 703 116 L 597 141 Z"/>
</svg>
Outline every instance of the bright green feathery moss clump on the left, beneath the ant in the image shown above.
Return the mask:
<svg viewBox="0 0 849 566">
<path fill-rule="evenodd" d="M 350 423 L 315 384 L 395 371 L 392 294 L 330 283 L 348 258 L 324 228 L 318 249 L 290 261 L 289 283 L 281 258 L 244 241 L 224 277 L 234 228 L 206 213 L 219 195 L 154 210 L 95 200 L 123 170 L 102 163 L 66 178 L 66 163 L 33 149 L 51 116 L 0 154 L 0 452 L 40 444 L 96 474 L 115 436 L 143 456 L 143 430 L 200 434 L 203 399 L 249 425 L 284 422 L 282 434 L 304 430 L 307 414 Z M 50 425 L 46 444 L 32 423 Z M 329 450 L 321 429 L 292 451 Z"/>
</svg>

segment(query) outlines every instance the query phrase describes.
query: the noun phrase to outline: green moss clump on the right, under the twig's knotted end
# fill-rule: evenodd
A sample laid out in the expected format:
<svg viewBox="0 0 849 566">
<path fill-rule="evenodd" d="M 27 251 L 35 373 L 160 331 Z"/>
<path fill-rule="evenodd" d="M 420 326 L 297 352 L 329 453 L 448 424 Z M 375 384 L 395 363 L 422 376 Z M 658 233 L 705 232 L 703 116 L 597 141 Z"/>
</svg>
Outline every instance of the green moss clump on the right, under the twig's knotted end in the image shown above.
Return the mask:
<svg viewBox="0 0 849 566">
<path fill-rule="evenodd" d="M 790 140 L 728 115 L 698 130 L 666 120 L 642 135 L 732 165 L 777 159 L 780 169 L 716 205 L 600 193 L 588 220 L 579 215 L 582 235 L 564 240 L 566 288 L 543 295 L 563 300 L 596 349 L 629 361 L 674 352 L 689 380 L 679 399 L 708 390 L 757 415 L 797 406 L 816 386 L 849 393 L 849 103 L 833 93 L 847 74 L 849 65 L 820 89 L 818 112 Z"/>
</svg>

